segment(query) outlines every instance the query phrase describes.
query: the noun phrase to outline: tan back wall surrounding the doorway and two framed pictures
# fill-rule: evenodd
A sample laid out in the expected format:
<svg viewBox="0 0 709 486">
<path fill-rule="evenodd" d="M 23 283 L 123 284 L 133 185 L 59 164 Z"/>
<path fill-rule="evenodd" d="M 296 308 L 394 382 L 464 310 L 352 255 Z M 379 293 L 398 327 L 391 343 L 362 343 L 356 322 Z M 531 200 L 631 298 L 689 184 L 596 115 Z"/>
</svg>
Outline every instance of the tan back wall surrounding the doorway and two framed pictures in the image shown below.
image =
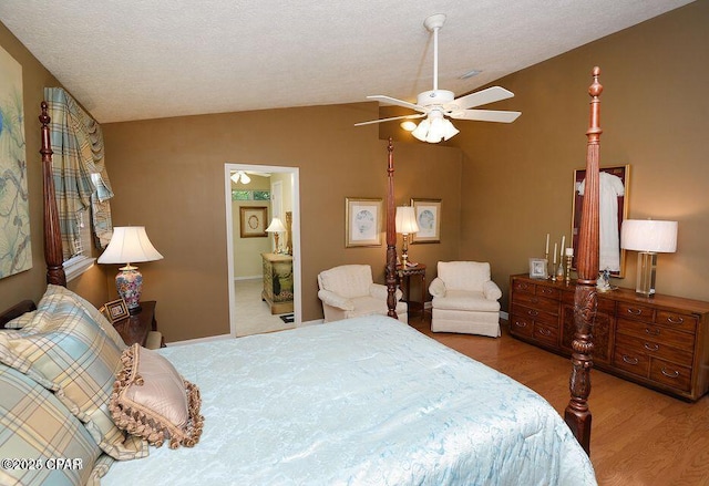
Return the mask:
<svg viewBox="0 0 709 486">
<path fill-rule="evenodd" d="M 384 246 L 345 248 L 345 198 L 384 197 L 387 147 L 354 127 L 377 105 L 312 106 L 103 125 L 116 226 L 145 225 L 164 260 L 143 263 L 144 299 L 157 300 L 167 341 L 228 332 L 224 164 L 300 168 L 302 319 L 322 317 L 317 275 L 369 263 L 383 282 Z M 431 266 L 458 254 L 461 154 L 399 144 L 398 203 L 443 198 L 441 245 L 412 256 Z"/>
</svg>

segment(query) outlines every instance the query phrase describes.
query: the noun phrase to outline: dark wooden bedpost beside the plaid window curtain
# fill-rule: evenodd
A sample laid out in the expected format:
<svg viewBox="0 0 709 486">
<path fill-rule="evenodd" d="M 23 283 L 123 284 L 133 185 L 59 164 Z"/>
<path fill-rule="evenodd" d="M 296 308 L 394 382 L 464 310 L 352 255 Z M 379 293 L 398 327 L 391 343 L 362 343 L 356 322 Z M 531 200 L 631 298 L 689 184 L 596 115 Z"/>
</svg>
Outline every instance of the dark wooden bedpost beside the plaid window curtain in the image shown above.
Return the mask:
<svg viewBox="0 0 709 486">
<path fill-rule="evenodd" d="M 52 173 L 52 143 L 49 136 L 47 102 L 42 102 L 42 178 L 44 180 L 44 260 L 47 261 L 47 283 L 66 287 L 62 255 L 62 237 L 59 227 L 59 211 L 54 193 L 54 175 Z"/>
</svg>

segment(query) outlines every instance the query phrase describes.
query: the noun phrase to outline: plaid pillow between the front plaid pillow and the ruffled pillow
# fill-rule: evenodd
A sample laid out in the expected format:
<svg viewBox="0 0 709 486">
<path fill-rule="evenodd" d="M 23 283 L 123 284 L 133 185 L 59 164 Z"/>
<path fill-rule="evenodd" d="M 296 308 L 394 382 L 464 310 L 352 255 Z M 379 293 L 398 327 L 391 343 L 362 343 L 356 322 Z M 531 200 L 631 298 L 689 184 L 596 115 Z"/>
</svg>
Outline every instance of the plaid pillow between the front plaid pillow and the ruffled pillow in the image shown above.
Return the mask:
<svg viewBox="0 0 709 486">
<path fill-rule="evenodd" d="M 126 438 L 109 412 L 122 348 L 69 299 L 51 302 L 21 331 L 0 332 L 0 362 L 53 391 L 112 457 L 146 456 L 147 444 Z"/>
</svg>

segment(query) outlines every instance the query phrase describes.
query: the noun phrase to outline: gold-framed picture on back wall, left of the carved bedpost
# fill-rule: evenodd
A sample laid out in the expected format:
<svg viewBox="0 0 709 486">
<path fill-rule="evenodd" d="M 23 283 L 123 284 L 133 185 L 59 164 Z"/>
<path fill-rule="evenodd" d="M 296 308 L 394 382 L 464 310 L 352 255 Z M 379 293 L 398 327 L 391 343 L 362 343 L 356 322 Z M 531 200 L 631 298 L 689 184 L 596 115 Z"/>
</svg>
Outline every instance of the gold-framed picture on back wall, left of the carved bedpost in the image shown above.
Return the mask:
<svg viewBox="0 0 709 486">
<path fill-rule="evenodd" d="M 345 247 L 381 246 L 382 199 L 345 198 Z"/>
</svg>

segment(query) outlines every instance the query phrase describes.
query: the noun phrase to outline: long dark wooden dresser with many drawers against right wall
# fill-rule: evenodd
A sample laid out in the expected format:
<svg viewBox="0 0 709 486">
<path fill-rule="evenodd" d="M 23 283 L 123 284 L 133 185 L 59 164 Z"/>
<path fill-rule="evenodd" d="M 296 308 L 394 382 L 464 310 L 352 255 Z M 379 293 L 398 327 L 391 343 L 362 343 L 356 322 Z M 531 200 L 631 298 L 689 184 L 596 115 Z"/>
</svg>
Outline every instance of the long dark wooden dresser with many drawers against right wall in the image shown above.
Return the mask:
<svg viewBox="0 0 709 486">
<path fill-rule="evenodd" d="M 510 278 L 510 332 L 571 356 L 575 285 Z M 598 292 L 594 366 L 623 379 L 696 401 L 709 389 L 709 302 L 631 289 Z"/>
</svg>

